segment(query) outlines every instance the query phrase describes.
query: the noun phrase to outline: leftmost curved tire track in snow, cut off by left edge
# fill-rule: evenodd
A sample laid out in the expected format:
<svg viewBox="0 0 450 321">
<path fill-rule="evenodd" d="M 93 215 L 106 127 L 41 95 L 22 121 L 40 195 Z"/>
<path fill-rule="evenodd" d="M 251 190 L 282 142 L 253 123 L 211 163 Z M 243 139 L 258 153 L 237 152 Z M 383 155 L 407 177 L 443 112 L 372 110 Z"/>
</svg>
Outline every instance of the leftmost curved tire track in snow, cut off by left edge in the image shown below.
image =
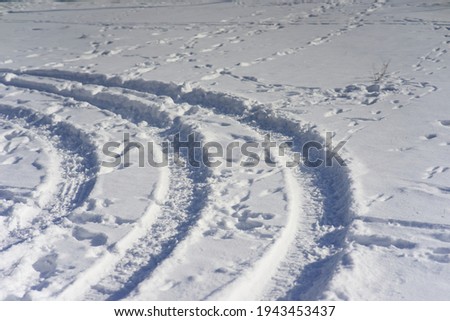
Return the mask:
<svg viewBox="0 0 450 321">
<path fill-rule="evenodd" d="M 44 137 L 54 146 L 61 160 L 58 192 L 40 208 L 40 213 L 29 226 L 10 232 L 8 242 L 0 248 L 0 252 L 4 252 L 14 245 L 32 239 L 48 226 L 59 224 L 64 217 L 83 204 L 95 185 L 98 162 L 95 147 L 89 138 L 68 123 L 54 122 L 50 117 L 33 110 L 4 104 L 0 105 L 0 117 Z"/>
</svg>

